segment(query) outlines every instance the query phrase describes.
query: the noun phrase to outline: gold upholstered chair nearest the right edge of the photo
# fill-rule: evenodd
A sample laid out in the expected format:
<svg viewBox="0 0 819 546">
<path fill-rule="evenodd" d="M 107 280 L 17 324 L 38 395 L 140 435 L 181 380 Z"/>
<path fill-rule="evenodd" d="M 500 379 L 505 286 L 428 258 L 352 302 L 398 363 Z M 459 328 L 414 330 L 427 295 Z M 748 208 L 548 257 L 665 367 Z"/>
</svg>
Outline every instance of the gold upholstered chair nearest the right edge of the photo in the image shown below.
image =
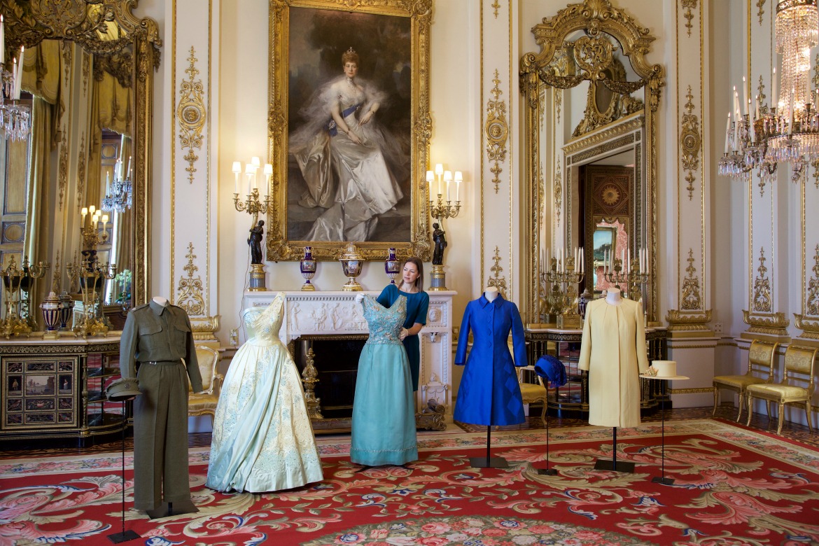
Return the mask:
<svg viewBox="0 0 819 546">
<path fill-rule="evenodd" d="M 765 400 L 768 418 L 771 417 L 771 402 L 779 404 L 779 423 L 776 434 L 782 434 L 782 421 L 785 418 L 785 405 L 802 406 L 805 410 L 805 419 L 808 421 L 808 431 L 813 431 L 811 425 L 811 397 L 813 395 L 813 372 L 816 367 L 817 350 L 813 347 L 789 345 L 785 350 L 785 372 L 779 383 L 761 383 L 749 385 L 745 390 L 748 399 L 748 422 L 751 423 L 753 413 L 753 399 Z"/>
</svg>

